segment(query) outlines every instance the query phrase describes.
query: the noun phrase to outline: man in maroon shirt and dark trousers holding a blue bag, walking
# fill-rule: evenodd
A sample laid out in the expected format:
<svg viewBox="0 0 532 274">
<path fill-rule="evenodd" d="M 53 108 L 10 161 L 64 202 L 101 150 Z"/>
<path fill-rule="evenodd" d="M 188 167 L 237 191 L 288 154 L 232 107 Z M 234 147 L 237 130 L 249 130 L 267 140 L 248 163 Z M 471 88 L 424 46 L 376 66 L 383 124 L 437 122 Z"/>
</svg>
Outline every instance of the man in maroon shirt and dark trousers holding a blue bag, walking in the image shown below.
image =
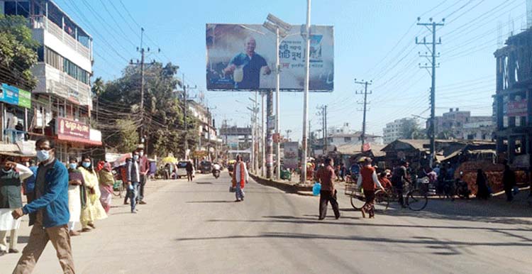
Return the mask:
<svg viewBox="0 0 532 274">
<path fill-rule="evenodd" d="M 325 165 L 316 172 L 316 177 L 321 182 L 318 219 L 323 220 L 327 216 L 327 205 L 329 202 L 331 202 L 331 206 L 333 207 L 334 217 L 338 219 L 340 218 L 340 210 L 338 209 L 338 201 L 336 199 L 337 192 L 334 189 L 335 174 L 333 159 L 325 158 L 323 162 Z"/>
</svg>

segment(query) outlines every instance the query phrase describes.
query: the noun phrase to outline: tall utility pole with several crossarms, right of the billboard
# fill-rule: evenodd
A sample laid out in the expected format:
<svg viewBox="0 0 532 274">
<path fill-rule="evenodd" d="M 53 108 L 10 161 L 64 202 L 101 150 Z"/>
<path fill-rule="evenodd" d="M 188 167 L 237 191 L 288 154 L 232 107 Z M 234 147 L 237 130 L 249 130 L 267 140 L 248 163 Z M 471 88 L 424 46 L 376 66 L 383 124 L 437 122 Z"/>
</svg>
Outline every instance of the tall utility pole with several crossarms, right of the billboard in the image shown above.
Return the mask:
<svg viewBox="0 0 532 274">
<path fill-rule="evenodd" d="M 428 55 L 427 53 L 425 53 L 424 55 L 422 55 L 421 53 L 419 53 L 419 56 L 420 57 L 426 57 L 428 62 L 430 62 L 430 66 L 425 63 L 425 65 L 421 65 L 421 63 L 419 64 L 419 67 L 420 68 L 424 68 L 424 69 L 427 69 L 428 68 L 431 68 L 431 72 L 429 72 L 429 74 L 431 75 L 432 77 L 432 85 L 431 85 L 431 120 L 430 120 L 430 123 L 429 123 L 429 128 L 428 128 L 428 137 L 431 139 L 431 159 L 430 159 L 430 165 L 431 165 L 431 168 L 433 167 L 433 162 L 434 162 L 434 158 L 436 157 L 436 132 L 435 132 L 435 128 L 434 128 L 434 122 L 436 120 L 436 67 L 438 66 L 439 67 L 439 63 L 436 64 L 436 57 L 440 57 L 440 53 L 436 54 L 436 45 L 440 45 L 441 44 L 441 38 L 439 38 L 438 42 L 436 42 L 436 27 L 437 26 L 443 26 L 443 23 L 445 22 L 445 18 L 442 19 L 441 23 L 436 23 L 435 21 L 433 21 L 432 18 L 429 18 L 429 21 L 430 23 L 419 23 L 419 21 L 421 21 L 421 18 L 418 17 L 418 26 L 425 26 L 428 31 L 431 31 L 432 33 L 432 43 L 431 42 L 427 42 L 426 41 L 426 38 L 423 37 L 423 41 L 420 42 L 418 41 L 418 38 L 416 37 L 416 44 L 417 45 L 425 45 L 426 48 L 428 49 L 428 51 L 431 53 L 430 55 Z M 432 45 L 432 49 L 428 47 L 428 45 Z M 428 59 L 429 57 L 431 57 L 431 59 Z"/>
</svg>

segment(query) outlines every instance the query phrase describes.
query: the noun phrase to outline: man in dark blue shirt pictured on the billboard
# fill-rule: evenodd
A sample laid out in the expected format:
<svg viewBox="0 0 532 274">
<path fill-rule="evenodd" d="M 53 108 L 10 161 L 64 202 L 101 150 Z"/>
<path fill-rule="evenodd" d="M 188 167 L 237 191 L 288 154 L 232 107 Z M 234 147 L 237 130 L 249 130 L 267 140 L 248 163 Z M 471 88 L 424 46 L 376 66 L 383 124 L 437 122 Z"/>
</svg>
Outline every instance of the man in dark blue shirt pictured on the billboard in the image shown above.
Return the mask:
<svg viewBox="0 0 532 274">
<path fill-rule="evenodd" d="M 235 89 L 258 89 L 260 73 L 270 75 L 272 70 L 268 67 L 264 57 L 255 53 L 257 42 L 250 37 L 245 40 L 245 53 L 239 53 L 227 65 L 223 72 L 233 74 Z"/>
</svg>

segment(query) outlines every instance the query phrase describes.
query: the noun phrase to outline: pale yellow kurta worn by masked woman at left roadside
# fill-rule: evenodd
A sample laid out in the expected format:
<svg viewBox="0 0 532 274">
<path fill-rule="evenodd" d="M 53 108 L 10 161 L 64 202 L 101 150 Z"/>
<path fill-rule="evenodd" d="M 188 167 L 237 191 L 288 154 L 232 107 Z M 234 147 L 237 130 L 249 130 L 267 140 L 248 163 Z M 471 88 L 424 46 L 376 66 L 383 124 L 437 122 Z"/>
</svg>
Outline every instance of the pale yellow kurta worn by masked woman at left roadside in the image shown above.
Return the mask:
<svg viewBox="0 0 532 274">
<path fill-rule="evenodd" d="M 101 192 L 96 172 L 90 172 L 83 167 L 79 167 L 78 170 L 82 172 L 83 179 L 85 180 L 85 187 L 87 189 L 87 204 L 84 209 L 82 209 L 81 221 L 88 222 L 107 218 L 105 209 L 101 206 L 100 202 Z M 94 190 L 94 194 L 91 194 L 91 188 Z"/>
</svg>

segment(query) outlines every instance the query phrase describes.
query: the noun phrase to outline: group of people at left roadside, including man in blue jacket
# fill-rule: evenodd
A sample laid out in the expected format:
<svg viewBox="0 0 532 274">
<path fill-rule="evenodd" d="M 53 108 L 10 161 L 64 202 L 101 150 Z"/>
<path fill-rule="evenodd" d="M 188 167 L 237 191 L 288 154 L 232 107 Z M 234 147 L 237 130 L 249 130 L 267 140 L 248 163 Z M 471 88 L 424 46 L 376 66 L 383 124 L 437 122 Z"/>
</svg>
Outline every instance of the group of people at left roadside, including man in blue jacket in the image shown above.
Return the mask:
<svg viewBox="0 0 532 274">
<path fill-rule="evenodd" d="M 15 163 L 8 157 L 0 170 L 0 256 L 19 253 L 17 230 L 21 217 L 29 215 L 33 227 L 13 273 L 31 273 L 48 241 L 57 251 L 63 272 L 74 273 L 70 237 L 96 229 L 96 221 L 108 217 L 116 182 L 112 165 L 104 161 L 94 165 L 90 155 L 71 158 L 65 165 L 55 158 L 54 142 L 48 138 L 36 141 L 35 150 L 37 164 L 33 160 Z M 149 163 L 143 147 L 133 151 L 123 170 L 126 199 L 130 200 L 131 213 L 136 213 L 136 204 L 146 204 Z M 26 195 L 26 205 L 22 194 Z"/>
</svg>

